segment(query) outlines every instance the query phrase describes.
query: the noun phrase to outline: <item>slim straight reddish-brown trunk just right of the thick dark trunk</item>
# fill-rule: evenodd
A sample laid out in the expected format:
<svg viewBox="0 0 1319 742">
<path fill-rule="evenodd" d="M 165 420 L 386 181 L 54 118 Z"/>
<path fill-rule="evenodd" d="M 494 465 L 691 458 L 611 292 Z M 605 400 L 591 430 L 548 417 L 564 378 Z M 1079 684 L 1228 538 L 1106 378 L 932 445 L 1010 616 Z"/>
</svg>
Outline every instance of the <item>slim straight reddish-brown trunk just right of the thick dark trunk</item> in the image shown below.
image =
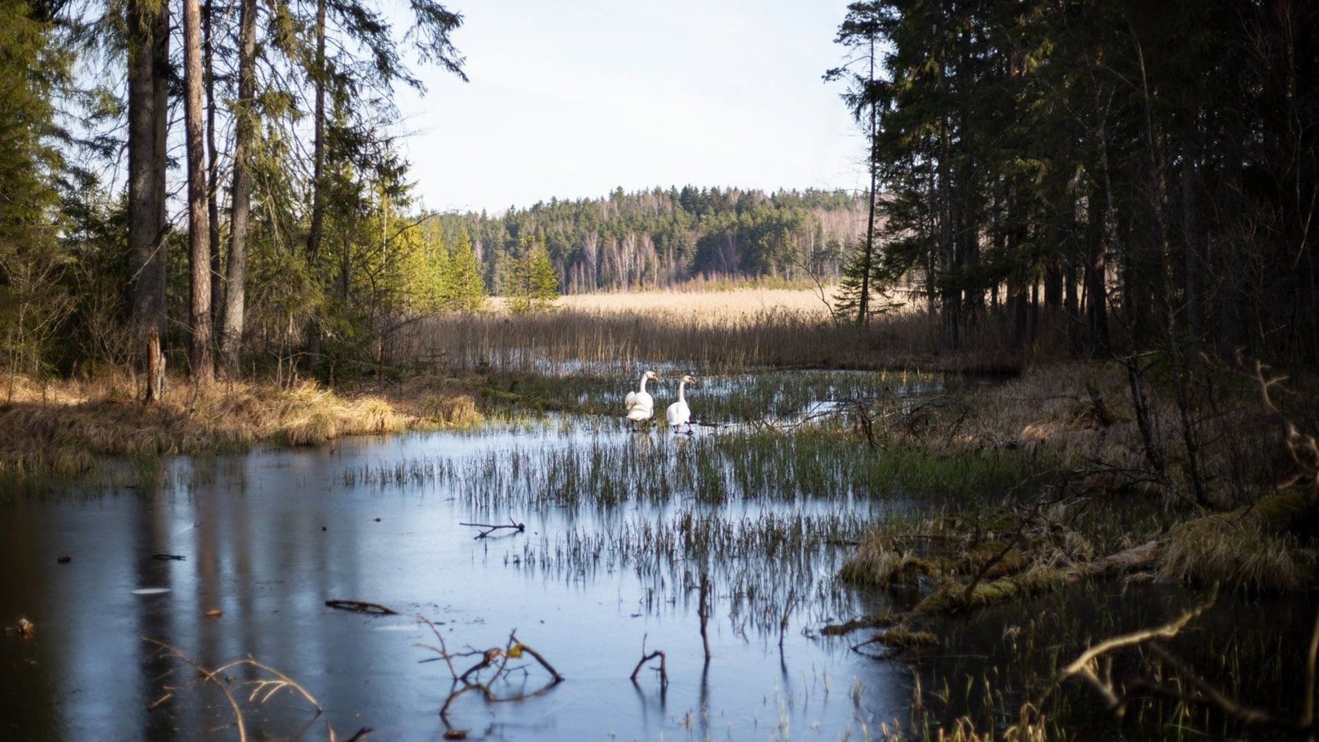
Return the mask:
<svg viewBox="0 0 1319 742">
<path fill-rule="evenodd" d="M 208 384 L 215 378 L 211 359 L 211 227 L 207 213 L 206 141 L 203 136 L 202 7 L 183 0 L 183 127 L 187 132 L 187 244 L 191 269 L 193 380 Z"/>
</svg>

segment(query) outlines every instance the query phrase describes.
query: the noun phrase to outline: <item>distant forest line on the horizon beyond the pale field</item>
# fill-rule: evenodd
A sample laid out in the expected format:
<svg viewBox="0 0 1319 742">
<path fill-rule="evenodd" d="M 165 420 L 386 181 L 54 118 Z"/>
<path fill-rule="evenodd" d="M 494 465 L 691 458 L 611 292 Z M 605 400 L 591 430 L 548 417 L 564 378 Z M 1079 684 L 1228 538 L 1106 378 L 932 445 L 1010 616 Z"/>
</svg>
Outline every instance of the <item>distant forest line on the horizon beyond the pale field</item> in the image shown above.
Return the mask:
<svg viewBox="0 0 1319 742">
<path fill-rule="evenodd" d="M 547 250 L 565 292 L 586 293 L 694 279 L 834 279 L 865 219 L 865 195 L 844 190 L 689 185 L 433 220 L 446 244 L 471 244 L 493 293 L 503 293 L 503 265 L 533 246 Z"/>
</svg>

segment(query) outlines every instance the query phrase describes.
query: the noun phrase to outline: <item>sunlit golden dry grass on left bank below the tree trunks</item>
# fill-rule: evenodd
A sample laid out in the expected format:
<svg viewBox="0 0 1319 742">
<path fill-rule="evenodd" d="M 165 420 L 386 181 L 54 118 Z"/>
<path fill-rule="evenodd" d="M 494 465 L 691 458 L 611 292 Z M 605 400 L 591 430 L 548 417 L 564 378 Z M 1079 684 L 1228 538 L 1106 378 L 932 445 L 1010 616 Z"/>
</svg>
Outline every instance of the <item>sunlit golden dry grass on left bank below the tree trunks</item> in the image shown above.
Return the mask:
<svg viewBox="0 0 1319 742">
<path fill-rule="evenodd" d="M 111 455 L 197 453 L 261 441 L 309 445 L 479 420 L 470 396 L 439 387 L 386 397 L 336 393 L 313 382 L 293 388 L 224 382 L 204 389 L 171 382 L 164 400 L 142 405 L 127 376 L 40 384 L 15 379 L 13 392 L 0 397 L 0 473 L 69 475 Z"/>
</svg>

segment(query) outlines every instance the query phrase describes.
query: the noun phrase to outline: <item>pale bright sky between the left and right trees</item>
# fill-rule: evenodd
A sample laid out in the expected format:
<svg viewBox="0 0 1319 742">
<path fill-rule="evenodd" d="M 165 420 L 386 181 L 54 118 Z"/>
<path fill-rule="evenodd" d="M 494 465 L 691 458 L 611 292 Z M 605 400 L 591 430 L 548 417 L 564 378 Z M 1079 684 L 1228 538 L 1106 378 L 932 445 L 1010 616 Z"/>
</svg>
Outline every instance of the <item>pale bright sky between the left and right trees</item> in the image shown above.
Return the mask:
<svg viewBox="0 0 1319 742">
<path fill-rule="evenodd" d="M 400 90 L 427 209 L 503 211 L 670 185 L 864 187 L 820 75 L 845 1 L 451 0 L 471 82 Z M 404 22 L 404 17 L 397 21 Z"/>
</svg>

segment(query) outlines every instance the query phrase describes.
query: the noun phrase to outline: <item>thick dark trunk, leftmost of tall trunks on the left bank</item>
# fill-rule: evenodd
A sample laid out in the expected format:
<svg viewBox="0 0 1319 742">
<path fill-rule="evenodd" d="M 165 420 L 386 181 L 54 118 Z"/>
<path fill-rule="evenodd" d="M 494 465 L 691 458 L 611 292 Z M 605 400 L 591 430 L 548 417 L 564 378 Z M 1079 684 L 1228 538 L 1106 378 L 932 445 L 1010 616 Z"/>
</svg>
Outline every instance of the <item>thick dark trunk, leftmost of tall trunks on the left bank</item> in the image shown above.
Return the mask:
<svg viewBox="0 0 1319 742">
<path fill-rule="evenodd" d="M 165 33 L 161 32 L 165 29 Z M 132 320 L 165 331 L 165 135 L 169 7 L 128 5 L 128 253 Z"/>
</svg>

